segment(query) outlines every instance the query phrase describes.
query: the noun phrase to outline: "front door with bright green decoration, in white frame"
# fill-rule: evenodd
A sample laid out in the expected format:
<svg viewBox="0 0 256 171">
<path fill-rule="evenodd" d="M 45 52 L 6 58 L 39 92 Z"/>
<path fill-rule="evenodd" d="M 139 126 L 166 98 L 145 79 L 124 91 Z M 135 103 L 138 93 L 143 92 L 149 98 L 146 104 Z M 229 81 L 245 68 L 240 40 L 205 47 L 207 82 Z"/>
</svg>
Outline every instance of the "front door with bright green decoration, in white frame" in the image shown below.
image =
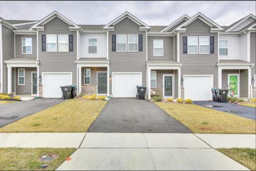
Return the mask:
<svg viewBox="0 0 256 171">
<path fill-rule="evenodd" d="M 228 88 L 231 97 L 239 96 L 239 74 L 228 75 Z"/>
</svg>

